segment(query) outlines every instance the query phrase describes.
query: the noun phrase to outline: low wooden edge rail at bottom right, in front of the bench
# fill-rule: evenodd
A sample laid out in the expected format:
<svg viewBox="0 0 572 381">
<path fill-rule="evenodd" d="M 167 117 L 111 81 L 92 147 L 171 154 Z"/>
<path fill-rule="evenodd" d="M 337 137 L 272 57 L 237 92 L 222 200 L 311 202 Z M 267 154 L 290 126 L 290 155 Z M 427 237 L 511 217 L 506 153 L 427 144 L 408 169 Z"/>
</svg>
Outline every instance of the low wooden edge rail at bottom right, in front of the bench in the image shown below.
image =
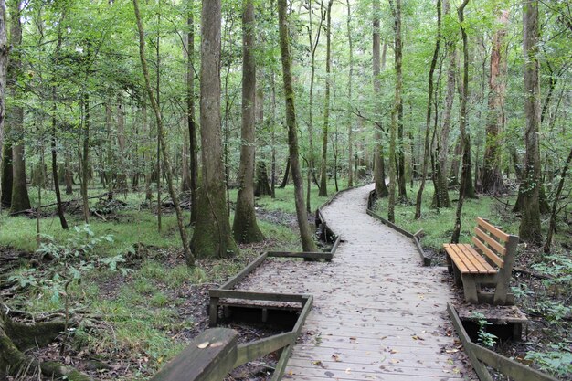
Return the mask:
<svg viewBox="0 0 572 381">
<path fill-rule="evenodd" d="M 499 355 L 490 349 L 484 348 L 479 344 L 471 342 L 471 338 L 461 323 L 461 318 L 452 304 L 447 303 L 447 311 L 449 312 L 450 320 L 455 327 L 455 331 L 461 339 L 461 343 L 465 348 L 465 352 L 471 360 L 471 365 L 474 368 L 477 376 L 481 381 L 493 381 L 493 377 L 487 370 L 485 365 L 492 366 L 494 369 L 508 376 L 514 380 L 526 381 L 556 381 L 553 376 L 548 376 L 542 372 L 518 363 L 508 357 Z"/>
</svg>

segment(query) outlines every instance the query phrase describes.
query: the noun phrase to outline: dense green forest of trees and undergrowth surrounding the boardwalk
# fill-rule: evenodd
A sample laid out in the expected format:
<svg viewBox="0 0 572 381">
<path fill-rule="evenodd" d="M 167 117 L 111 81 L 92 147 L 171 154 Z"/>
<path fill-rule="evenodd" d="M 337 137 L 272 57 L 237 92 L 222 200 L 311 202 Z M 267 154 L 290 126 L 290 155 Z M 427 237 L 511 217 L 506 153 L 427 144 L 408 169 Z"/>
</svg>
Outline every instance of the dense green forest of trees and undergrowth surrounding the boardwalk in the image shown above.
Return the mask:
<svg viewBox="0 0 572 381">
<path fill-rule="evenodd" d="M 74 280 L 165 248 L 177 282 L 265 238 L 312 251 L 315 208 L 372 181 L 429 250 L 480 215 L 521 270 L 570 277 L 567 0 L 7 0 L 0 21 L 3 300 L 67 311 Z"/>
</svg>

